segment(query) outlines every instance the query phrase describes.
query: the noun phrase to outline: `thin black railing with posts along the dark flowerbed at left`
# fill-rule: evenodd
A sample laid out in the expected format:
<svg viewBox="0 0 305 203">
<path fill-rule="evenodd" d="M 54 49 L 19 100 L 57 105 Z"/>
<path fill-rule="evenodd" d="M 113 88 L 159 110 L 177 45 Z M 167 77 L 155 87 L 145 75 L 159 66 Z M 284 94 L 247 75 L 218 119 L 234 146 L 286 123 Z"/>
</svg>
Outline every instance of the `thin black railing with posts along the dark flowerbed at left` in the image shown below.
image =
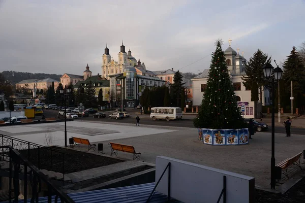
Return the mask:
<svg viewBox="0 0 305 203">
<path fill-rule="evenodd" d="M 5 134 L 0 134 L 0 146 L 14 148 L 39 169 L 62 173 L 63 180 L 65 180 L 65 153 L 50 147 L 6 136 Z M 9 150 L 6 148 L 0 150 L 0 168 L 4 165 L 4 161 L 9 161 L 8 152 Z"/>
</svg>

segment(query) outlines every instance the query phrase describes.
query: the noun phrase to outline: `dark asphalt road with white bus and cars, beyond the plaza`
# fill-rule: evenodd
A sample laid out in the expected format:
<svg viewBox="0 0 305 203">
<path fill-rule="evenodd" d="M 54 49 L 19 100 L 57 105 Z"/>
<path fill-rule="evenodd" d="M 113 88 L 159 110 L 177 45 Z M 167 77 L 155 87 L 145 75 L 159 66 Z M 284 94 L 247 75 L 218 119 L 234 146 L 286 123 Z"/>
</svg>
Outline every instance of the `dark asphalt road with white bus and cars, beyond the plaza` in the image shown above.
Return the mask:
<svg viewBox="0 0 305 203">
<path fill-rule="evenodd" d="M 109 123 L 134 123 L 136 125 L 136 114 L 139 112 L 139 110 L 127 110 L 130 114 L 130 118 L 125 118 L 123 120 L 115 120 L 115 119 L 109 119 L 107 116 L 111 114 L 111 112 L 105 112 L 106 118 L 93 118 L 92 115 L 85 118 L 78 118 L 78 120 L 86 120 L 86 121 L 102 121 L 102 122 L 109 122 Z M 55 110 L 44 110 L 44 115 L 46 117 L 57 117 L 58 111 Z M 149 118 L 149 115 L 140 115 L 140 125 L 146 124 L 146 125 L 159 125 L 159 126 L 171 126 L 171 127 L 194 127 L 193 125 L 193 115 L 186 115 L 184 116 L 184 119 L 182 120 L 172 120 L 172 121 L 165 121 L 165 120 L 151 120 Z M 271 132 L 271 126 L 269 126 L 269 129 L 264 132 Z M 275 132 L 276 133 L 286 133 L 285 127 L 279 127 L 275 126 Z M 305 135 L 305 128 L 291 128 L 291 134 L 304 134 Z"/>
</svg>

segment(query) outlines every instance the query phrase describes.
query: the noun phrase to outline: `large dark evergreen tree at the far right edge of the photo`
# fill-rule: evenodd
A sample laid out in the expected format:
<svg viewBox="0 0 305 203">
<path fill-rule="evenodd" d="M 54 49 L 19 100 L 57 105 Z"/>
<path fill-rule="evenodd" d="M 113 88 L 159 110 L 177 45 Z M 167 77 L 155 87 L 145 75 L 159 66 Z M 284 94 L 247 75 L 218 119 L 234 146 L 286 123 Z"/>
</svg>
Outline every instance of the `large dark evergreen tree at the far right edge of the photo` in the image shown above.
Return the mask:
<svg viewBox="0 0 305 203">
<path fill-rule="evenodd" d="M 300 108 L 304 102 L 304 93 L 305 93 L 305 66 L 302 62 L 302 59 L 296 48 L 293 47 L 290 55 L 287 57 L 286 61 L 283 64 L 284 73 L 283 81 L 286 92 L 291 94 L 291 81 L 293 87 L 293 106 L 295 108 Z M 285 95 L 285 94 L 284 94 Z M 283 100 L 288 100 L 283 98 Z"/>
</svg>

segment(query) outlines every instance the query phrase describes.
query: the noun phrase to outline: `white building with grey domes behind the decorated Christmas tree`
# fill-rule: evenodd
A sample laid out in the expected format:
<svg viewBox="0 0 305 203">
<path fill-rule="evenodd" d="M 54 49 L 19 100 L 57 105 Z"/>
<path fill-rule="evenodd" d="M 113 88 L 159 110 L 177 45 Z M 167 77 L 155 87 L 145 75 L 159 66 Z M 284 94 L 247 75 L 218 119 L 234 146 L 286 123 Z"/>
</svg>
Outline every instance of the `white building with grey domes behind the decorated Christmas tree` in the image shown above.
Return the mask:
<svg viewBox="0 0 305 203">
<path fill-rule="evenodd" d="M 239 50 L 239 49 L 237 49 Z M 238 104 L 238 108 L 241 110 L 241 107 L 245 107 L 245 112 L 243 116 L 245 118 L 254 118 L 255 116 L 255 105 L 254 101 L 251 101 L 251 90 L 247 89 L 242 84 L 242 76 L 245 76 L 245 64 L 247 60 L 240 56 L 239 53 L 236 53 L 231 46 L 225 51 L 226 63 L 228 66 L 230 78 L 234 87 L 234 92 Z M 194 77 L 193 82 L 193 108 L 198 108 L 201 105 L 203 91 L 206 88 L 206 82 L 208 79 L 209 69 L 203 70 L 202 74 Z M 269 103 L 269 92 L 263 91 L 263 105 Z M 259 112 L 257 112 L 258 114 Z"/>
</svg>

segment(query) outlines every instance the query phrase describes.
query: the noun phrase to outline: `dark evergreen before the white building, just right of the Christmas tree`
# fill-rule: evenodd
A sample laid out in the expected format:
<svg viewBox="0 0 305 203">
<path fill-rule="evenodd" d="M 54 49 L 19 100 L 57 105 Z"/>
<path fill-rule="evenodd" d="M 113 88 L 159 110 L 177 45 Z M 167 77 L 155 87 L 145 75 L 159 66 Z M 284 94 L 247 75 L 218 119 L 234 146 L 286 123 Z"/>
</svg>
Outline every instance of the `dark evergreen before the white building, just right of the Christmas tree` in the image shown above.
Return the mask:
<svg viewBox="0 0 305 203">
<path fill-rule="evenodd" d="M 265 54 L 258 49 L 246 64 L 246 75 L 242 76 L 242 83 L 245 85 L 245 87 L 251 89 L 251 101 L 262 100 L 262 86 L 265 84 L 262 66 L 265 63 L 270 62 L 271 57 L 268 58 L 268 54 Z M 258 97 L 258 94 L 260 98 Z"/>
</svg>

